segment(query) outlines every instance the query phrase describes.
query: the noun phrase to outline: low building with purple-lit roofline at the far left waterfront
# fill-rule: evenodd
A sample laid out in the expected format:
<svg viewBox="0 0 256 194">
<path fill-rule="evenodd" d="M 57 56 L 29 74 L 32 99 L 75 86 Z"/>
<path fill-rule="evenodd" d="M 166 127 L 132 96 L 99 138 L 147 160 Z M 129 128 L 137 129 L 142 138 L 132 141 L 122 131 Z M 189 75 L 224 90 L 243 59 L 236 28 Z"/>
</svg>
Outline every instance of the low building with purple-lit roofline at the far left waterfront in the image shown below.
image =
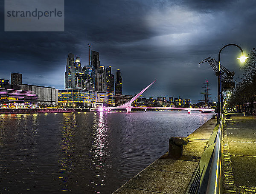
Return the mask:
<svg viewBox="0 0 256 194">
<path fill-rule="evenodd" d="M 0 88 L 0 108 L 35 108 L 38 96 L 33 91 Z"/>
</svg>

